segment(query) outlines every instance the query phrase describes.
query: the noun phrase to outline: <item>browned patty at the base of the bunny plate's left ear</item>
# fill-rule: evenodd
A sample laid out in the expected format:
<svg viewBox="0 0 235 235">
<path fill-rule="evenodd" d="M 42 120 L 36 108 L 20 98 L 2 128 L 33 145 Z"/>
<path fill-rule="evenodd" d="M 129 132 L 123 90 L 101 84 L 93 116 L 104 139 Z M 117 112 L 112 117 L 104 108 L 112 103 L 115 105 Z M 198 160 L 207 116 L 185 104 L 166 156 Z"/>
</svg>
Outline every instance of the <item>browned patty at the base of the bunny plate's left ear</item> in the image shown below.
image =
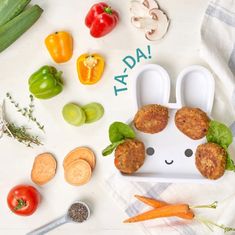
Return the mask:
<svg viewBox="0 0 235 235">
<path fill-rule="evenodd" d="M 162 131 L 168 123 L 168 109 L 157 104 L 143 106 L 135 115 L 137 130 L 154 134 Z"/>
</svg>

